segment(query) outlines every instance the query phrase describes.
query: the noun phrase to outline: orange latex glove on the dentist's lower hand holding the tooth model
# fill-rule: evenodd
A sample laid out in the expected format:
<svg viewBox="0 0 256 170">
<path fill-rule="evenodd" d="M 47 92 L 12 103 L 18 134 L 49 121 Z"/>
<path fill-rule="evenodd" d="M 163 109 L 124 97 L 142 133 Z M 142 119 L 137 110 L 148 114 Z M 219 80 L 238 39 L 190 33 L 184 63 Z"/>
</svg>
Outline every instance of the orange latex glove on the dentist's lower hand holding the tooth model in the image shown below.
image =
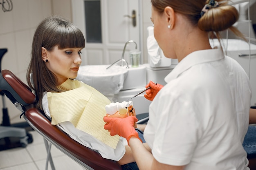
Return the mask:
<svg viewBox="0 0 256 170">
<path fill-rule="evenodd" d="M 141 141 L 138 132 L 134 128 L 134 123 L 138 121 L 135 116 L 128 116 L 126 118 L 105 116 L 103 120 L 106 122 L 104 129 L 108 130 L 111 136 L 119 135 L 126 138 L 128 145 L 132 136 L 137 137 Z"/>
</svg>

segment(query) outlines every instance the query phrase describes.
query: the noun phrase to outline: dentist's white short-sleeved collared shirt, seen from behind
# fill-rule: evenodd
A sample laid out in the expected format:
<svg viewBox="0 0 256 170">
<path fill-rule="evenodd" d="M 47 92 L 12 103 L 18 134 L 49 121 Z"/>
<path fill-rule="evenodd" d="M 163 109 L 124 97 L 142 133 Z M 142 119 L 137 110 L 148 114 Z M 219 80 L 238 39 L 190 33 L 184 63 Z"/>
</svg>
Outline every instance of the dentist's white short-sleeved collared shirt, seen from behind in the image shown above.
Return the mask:
<svg viewBox="0 0 256 170">
<path fill-rule="evenodd" d="M 251 87 L 243 68 L 220 49 L 196 51 L 165 81 L 144 131 L 154 158 L 186 170 L 246 170 Z"/>
</svg>

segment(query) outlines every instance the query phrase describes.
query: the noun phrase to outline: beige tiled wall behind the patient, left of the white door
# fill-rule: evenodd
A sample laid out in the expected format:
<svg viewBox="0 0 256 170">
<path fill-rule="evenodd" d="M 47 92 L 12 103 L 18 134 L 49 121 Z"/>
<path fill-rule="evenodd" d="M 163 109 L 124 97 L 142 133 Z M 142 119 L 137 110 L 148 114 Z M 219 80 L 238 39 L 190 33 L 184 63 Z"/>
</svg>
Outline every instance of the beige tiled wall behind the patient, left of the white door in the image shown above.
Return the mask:
<svg viewBox="0 0 256 170">
<path fill-rule="evenodd" d="M 8 69 L 26 82 L 30 61 L 31 44 L 36 26 L 49 15 L 62 15 L 71 20 L 70 0 L 12 0 L 13 10 L 3 12 L 0 8 L 0 48 L 8 52 L 2 58 L 1 69 Z M 2 108 L 0 99 L 0 108 Z M 5 98 L 11 123 L 24 121 L 20 111 Z M 2 122 L 2 113 L 0 113 Z"/>
</svg>

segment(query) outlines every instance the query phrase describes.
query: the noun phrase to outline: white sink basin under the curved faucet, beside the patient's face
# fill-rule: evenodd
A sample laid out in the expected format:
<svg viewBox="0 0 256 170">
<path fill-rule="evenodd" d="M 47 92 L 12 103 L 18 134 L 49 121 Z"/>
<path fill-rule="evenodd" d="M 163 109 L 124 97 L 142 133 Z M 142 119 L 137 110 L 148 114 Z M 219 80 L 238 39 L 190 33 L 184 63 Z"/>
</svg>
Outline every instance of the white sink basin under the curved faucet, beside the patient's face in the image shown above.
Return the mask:
<svg viewBox="0 0 256 170">
<path fill-rule="evenodd" d="M 119 65 L 106 69 L 108 66 L 80 66 L 76 79 L 94 87 L 103 95 L 117 94 L 124 86 L 128 69 Z"/>
</svg>

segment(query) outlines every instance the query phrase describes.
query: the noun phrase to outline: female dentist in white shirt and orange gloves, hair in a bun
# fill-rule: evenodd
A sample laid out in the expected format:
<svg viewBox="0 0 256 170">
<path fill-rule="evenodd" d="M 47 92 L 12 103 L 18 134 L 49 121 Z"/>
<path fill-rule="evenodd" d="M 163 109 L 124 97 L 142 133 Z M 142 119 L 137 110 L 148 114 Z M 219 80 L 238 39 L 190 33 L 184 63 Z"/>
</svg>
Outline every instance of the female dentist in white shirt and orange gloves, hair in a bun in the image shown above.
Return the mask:
<svg viewBox="0 0 256 170">
<path fill-rule="evenodd" d="M 251 87 L 243 68 L 209 33 L 231 29 L 238 11 L 219 0 L 151 0 L 154 35 L 164 55 L 179 64 L 162 86 L 147 86 L 153 100 L 141 144 L 137 119 L 104 117 L 110 135 L 125 137 L 140 170 L 246 170 Z M 158 92 L 158 90 L 161 90 Z M 157 93 L 158 92 L 158 93 Z M 156 95 L 157 93 L 157 95 Z"/>
</svg>

